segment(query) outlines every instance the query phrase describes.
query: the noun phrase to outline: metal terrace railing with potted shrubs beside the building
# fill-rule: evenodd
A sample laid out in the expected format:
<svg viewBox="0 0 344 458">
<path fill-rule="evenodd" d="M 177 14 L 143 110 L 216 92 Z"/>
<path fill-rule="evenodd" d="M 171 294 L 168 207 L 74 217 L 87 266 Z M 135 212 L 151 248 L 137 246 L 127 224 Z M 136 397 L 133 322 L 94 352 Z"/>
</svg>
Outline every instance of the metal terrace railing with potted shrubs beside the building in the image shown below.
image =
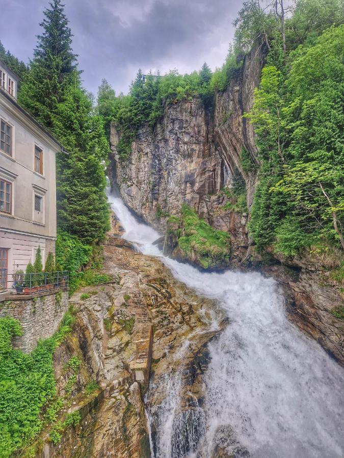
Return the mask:
<svg viewBox="0 0 344 458">
<path fill-rule="evenodd" d="M 69 272 L 14 273 L 9 274 L 7 269 L 0 269 L 0 289 L 17 294 L 38 294 L 60 288 L 68 288 Z"/>
</svg>

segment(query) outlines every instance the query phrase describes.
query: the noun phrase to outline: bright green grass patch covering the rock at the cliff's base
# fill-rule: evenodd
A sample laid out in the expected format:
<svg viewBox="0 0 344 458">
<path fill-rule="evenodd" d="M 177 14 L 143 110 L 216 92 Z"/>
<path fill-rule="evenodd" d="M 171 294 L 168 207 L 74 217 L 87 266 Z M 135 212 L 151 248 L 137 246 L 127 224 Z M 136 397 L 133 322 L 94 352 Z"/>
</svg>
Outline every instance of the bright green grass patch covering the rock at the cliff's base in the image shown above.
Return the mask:
<svg viewBox="0 0 344 458">
<path fill-rule="evenodd" d="M 205 269 L 228 263 L 230 236 L 227 232 L 211 227 L 187 204 L 182 206 L 181 224 L 183 235 L 178 239 L 178 246 L 184 255 L 194 252 Z"/>
</svg>

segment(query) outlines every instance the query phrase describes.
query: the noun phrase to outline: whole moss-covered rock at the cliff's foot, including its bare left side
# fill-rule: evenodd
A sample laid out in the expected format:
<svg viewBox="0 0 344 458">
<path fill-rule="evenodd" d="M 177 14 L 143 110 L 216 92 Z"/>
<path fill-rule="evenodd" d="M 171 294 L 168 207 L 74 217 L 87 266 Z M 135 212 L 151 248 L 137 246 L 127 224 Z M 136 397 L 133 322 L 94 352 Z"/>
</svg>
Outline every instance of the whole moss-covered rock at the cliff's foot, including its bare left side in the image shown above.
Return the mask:
<svg viewBox="0 0 344 458">
<path fill-rule="evenodd" d="M 211 227 L 183 204 L 180 218 L 172 216 L 168 220 L 164 252 L 203 269 L 223 268 L 229 264 L 230 236 Z"/>
</svg>

